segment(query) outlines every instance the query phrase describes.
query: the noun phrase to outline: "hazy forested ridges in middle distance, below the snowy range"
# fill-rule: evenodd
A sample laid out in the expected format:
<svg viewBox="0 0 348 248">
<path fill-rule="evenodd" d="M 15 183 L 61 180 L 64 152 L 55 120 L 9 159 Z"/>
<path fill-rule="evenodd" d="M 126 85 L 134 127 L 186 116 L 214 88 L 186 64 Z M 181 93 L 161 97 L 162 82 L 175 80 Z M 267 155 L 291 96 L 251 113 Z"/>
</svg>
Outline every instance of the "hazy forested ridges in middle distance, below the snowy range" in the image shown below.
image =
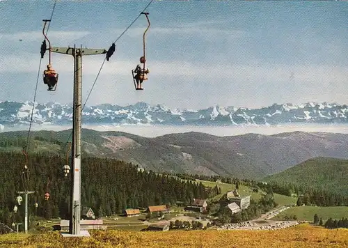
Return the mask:
<svg viewBox="0 0 348 248">
<path fill-rule="evenodd" d="M 71 130 L 0 132 L 0 151 L 65 154 Z M 348 159 L 348 134 L 287 132 L 218 137 L 201 132 L 147 138 L 125 132 L 82 130 L 83 157 L 112 157 L 159 173 L 260 179 L 313 157 Z M 286 151 L 286 152 L 285 152 Z"/>
</svg>

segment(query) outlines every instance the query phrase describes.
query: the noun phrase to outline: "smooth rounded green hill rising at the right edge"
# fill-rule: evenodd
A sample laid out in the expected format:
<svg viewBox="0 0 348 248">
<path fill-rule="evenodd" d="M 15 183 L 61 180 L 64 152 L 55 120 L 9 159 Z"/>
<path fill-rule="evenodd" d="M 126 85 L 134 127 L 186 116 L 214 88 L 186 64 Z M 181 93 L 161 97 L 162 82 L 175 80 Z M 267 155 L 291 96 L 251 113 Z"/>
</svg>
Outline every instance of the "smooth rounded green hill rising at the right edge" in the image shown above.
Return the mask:
<svg viewBox="0 0 348 248">
<path fill-rule="evenodd" d="M 267 176 L 264 180 L 326 188 L 331 192 L 340 192 L 347 195 L 347 178 L 348 160 L 317 157 L 280 173 Z"/>
</svg>

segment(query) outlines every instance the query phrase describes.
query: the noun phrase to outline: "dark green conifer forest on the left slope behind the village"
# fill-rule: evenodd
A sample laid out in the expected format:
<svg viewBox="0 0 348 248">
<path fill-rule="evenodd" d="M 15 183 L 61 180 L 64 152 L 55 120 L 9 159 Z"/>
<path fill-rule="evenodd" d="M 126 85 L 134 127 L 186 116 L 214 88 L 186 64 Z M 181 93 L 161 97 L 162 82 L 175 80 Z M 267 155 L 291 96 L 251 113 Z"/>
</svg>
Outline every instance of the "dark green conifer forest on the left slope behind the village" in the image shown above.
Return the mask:
<svg viewBox="0 0 348 248">
<path fill-rule="evenodd" d="M 8 217 L 8 211 L 15 206 L 16 191 L 22 190 L 24 162 L 24 155 L 19 153 L 0 153 L 0 222 L 6 222 L 3 217 Z M 58 156 L 29 156 L 28 189 L 38 192 L 29 196 L 31 211 L 35 211 L 34 203 L 37 201 L 38 215 L 66 217 L 70 206 L 70 180 L 64 177 L 64 164 L 66 160 Z M 177 201 L 188 203 L 193 198 L 205 199 L 219 193 L 217 187 L 142 171 L 118 160 L 85 157 L 81 169 L 82 205 L 93 208 L 97 215 L 120 213 L 125 208 L 170 205 Z M 45 201 L 48 178 L 50 197 Z"/>
</svg>

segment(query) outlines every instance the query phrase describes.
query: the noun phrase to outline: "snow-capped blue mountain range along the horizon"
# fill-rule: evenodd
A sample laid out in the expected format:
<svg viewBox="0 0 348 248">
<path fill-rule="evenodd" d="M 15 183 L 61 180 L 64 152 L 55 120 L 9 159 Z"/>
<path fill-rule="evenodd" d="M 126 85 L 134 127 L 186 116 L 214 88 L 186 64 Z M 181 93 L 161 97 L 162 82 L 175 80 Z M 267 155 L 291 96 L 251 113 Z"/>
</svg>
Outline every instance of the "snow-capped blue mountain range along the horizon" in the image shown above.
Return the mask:
<svg viewBox="0 0 348 248">
<path fill-rule="evenodd" d="M 0 125 L 25 125 L 31 120 L 33 102 L 0 102 Z M 214 106 L 207 109 L 170 109 L 138 102 L 129 106 L 100 104 L 85 107 L 84 124 L 165 124 L 165 125 L 274 125 L 280 123 L 347 123 L 346 104 L 273 104 L 260 109 Z M 72 123 L 72 106 L 35 102 L 33 123 Z"/>
</svg>

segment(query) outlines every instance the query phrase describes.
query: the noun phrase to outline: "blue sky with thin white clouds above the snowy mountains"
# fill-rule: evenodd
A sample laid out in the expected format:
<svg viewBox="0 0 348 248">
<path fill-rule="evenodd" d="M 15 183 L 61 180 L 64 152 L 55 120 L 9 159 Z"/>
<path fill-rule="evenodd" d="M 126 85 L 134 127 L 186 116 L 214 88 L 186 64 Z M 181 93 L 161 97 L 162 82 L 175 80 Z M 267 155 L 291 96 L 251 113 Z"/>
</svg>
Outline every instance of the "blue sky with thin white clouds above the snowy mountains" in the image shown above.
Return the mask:
<svg viewBox="0 0 348 248">
<path fill-rule="evenodd" d="M 54 1 L 0 1 L 0 100 L 33 100 L 42 19 Z M 53 46 L 106 48 L 148 1 L 58 1 L 49 29 Z M 149 80 L 135 91 L 132 68 L 142 54 L 145 16 L 116 43 L 90 104 L 347 104 L 348 2 L 153 1 L 147 10 Z M 22 42 L 19 41 L 22 39 Z M 83 59 L 83 100 L 104 56 Z M 42 60 L 41 72 L 48 63 Z M 52 54 L 57 91 L 38 85 L 37 102 L 72 102 L 72 56 Z"/>
</svg>

